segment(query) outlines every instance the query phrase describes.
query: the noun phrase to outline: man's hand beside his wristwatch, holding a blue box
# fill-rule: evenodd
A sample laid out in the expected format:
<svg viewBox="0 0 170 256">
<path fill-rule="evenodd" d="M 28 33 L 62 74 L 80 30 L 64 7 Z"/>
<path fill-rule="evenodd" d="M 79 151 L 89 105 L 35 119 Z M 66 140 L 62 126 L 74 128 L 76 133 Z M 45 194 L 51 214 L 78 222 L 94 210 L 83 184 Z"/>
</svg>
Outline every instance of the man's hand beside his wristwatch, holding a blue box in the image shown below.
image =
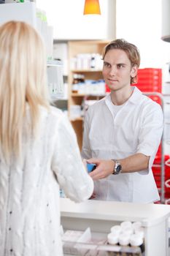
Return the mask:
<svg viewBox="0 0 170 256">
<path fill-rule="evenodd" d="M 90 158 L 87 162 L 97 165 L 96 169 L 89 173 L 94 181 L 101 178 L 107 178 L 107 176 L 113 173 L 115 163 L 112 160 Z"/>
</svg>

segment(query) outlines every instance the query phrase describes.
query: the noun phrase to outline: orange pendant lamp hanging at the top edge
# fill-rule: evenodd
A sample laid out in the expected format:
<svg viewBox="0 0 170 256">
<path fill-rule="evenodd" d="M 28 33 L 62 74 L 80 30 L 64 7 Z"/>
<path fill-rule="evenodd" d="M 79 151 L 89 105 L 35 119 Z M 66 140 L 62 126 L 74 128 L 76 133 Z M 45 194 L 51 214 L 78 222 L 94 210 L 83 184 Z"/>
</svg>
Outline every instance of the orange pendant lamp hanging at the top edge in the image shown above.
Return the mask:
<svg viewBox="0 0 170 256">
<path fill-rule="evenodd" d="M 99 14 L 101 15 L 101 9 L 98 0 L 85 0 L 84 15 L 87 14 Z"/>
</svg>

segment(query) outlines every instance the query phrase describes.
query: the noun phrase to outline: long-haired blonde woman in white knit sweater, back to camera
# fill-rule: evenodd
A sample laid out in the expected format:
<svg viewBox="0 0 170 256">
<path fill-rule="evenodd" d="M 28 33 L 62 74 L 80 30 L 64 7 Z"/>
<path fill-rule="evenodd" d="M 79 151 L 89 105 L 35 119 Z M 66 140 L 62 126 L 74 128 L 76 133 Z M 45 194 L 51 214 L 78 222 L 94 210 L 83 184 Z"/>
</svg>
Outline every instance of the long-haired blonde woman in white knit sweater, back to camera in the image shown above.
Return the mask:
<svg viewBox="0 0 170 256">
<path fill-rule="evenodd" d="M 0 26 L 0 255 L 61 256 L 59 186 L 88 199 L 77 139 L 47 96 L 45 50 L 28 24 Z"/>
</svg>

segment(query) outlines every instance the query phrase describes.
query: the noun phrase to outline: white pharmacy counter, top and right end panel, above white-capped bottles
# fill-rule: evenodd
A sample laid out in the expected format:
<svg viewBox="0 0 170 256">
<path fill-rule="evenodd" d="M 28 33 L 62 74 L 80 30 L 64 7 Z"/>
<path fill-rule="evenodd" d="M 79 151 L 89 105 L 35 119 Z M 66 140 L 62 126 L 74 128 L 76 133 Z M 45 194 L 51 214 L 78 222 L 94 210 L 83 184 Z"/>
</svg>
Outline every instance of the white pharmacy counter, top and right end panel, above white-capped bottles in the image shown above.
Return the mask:
<svg viewBox="0 0 170 256">
<path fill-rule="evenodd" d="M 142 222 L 146 256 L 169 256 L 168 219 L 170 206 L 158 204 L 120 203 L 87 200 L 74 203 L 61 198 L 61 224 L 64 230 L 85 230 L 109 233 L 120 222 Z"/>
</svg>

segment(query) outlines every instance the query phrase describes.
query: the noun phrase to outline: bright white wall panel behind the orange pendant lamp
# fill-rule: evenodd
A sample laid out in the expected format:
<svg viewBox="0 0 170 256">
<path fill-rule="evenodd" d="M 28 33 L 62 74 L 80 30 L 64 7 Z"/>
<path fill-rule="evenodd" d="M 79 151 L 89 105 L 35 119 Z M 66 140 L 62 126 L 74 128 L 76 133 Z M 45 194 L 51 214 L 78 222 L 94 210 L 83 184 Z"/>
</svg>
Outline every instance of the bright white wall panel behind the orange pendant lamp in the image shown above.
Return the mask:
<svg viewBox="0 0 170 256">
<path fill-rule="evenodd" d="M 54 27 L 55 39 L 115 38 L 115 0 L 99 0 L 101 15 L 83 15 L 85 0 L 36 0 Z"/>
</svg>

